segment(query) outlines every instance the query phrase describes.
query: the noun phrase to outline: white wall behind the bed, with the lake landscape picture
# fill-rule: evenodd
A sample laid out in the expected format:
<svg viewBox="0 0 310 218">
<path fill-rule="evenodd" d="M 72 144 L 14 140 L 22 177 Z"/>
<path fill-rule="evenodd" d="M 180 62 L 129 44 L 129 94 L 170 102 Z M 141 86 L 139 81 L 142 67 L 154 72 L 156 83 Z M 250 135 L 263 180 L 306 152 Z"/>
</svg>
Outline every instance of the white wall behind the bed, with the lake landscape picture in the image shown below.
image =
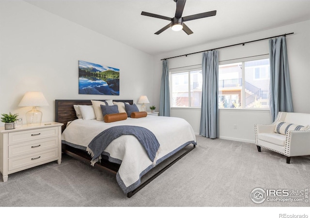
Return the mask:
<svg viewBox="0 0 310 218">
<path fill-rule="evenodd" d="M 120 95 L 78 94 L 78 60 L 120 69 Z M 19 108 L 27 91 L 42 91 L 43 122 L 54 121 L 55 99 L 133 99 L 153 103 L 153 56 L 53 15 L 25 1 L 0 1 L 0 113 Z M 3 125 L 1 123 L 0 125 Z"/>
</svg>

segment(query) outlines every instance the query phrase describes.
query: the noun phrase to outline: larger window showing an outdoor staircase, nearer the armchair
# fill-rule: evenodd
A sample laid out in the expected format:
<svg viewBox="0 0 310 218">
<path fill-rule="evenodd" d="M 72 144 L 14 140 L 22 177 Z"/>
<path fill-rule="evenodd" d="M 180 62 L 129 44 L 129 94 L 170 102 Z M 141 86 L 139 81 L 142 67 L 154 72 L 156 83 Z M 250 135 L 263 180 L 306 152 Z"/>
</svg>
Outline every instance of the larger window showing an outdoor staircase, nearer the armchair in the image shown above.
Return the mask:
<svg viewBox="0 0 310 218">
<path fill-rule="evenodd" d="M 269 59 L 219 65 L 218 108 L 269 108 Z"/>
</svg>

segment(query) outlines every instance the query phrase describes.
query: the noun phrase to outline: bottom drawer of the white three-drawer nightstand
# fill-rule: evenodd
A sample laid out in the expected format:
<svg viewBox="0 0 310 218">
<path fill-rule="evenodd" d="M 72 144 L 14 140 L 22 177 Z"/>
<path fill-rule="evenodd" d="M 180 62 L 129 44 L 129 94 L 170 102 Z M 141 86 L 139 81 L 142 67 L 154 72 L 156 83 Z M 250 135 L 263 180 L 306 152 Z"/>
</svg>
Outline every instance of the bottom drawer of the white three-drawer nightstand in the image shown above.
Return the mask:
<svg viewBox="0 0 310 218">
<path fill-rule="evenodd" d="M 58 148 L 49 149 L 42 152 L 36 152 L 30 155 L 18 156 L 8 159 L 8 171 L 14 171 L 19 168 L 34 167 L 40 162 L 58 157 Z"/>
</svg>

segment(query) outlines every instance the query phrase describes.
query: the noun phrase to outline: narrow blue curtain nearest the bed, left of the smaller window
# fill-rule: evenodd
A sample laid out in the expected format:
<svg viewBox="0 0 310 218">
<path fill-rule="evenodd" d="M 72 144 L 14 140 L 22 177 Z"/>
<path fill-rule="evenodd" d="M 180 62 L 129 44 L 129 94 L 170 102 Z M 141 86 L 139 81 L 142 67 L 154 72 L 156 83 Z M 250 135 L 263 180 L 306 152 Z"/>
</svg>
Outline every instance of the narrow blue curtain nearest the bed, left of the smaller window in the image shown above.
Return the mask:
<svg viewBox="0 0 310 218">
<path fill-rule="evenodd" d="M 170 117 L 169 67 L 168 61 L 163 60 L 163 74 L 161 76 L 159 116 Z"/>
</svg>

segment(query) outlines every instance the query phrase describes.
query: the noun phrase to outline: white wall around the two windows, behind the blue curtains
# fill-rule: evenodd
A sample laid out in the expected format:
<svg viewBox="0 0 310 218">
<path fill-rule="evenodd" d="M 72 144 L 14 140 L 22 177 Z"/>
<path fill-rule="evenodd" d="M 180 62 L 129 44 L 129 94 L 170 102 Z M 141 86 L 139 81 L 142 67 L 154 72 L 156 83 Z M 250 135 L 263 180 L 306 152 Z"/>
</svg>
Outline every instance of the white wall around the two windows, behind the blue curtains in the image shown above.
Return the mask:
<svg viewBox="0 0 310 218">
<path fill-rule="evenodd" d="M 259 31 L 235 38 L 221 40 L 209 44 L 195 47 L 188 47 L 169 53 L 160 54 L 155 57 L 155 84 L 154 87 L 160 87 L 162 74 L 161 59 L 174 57 L 178 55 L 208 50 L 217 47 L 224 47 L 233 44 L 248 42 L 256 39 L 267 38 L 283 33 L 294 32 L 286 37 L 289 68 L 291 76 L 291 86 L 293 94 L 293 105 L 295 112 L 310 113 L 310 20 L 282 26 L 270 30 Z M 182 32 L 180 32 L 182 34 Z M 206 35 L 206 37 L 208 37 Z M 190 35 L 188 36 L 190 40 Z M 268 40 L 249 43 L 245 46 L 235 46 L 219 49 L 219 61 L 244 58 L 254 55 L 268 54 Z M 201 64 L 202 53 L 188 55 L 169 59 L 169 68 L 184 67 Z M 156 104 L 159 105 L 159 94 Z M 200 127 L 200 109 L 171 109 L 171 116 L 182 117 L 186 119 L 196 133 L 199 133 Z M 271 123 L 270 113 L 265 110 L 232 110 L 220 109 L 219 111 L 219 135 L 222 139 L 240 140 L 254 142 L 254 124 Z M 237 125 L 237 129 L 233 129 Z"/>
</svg>

